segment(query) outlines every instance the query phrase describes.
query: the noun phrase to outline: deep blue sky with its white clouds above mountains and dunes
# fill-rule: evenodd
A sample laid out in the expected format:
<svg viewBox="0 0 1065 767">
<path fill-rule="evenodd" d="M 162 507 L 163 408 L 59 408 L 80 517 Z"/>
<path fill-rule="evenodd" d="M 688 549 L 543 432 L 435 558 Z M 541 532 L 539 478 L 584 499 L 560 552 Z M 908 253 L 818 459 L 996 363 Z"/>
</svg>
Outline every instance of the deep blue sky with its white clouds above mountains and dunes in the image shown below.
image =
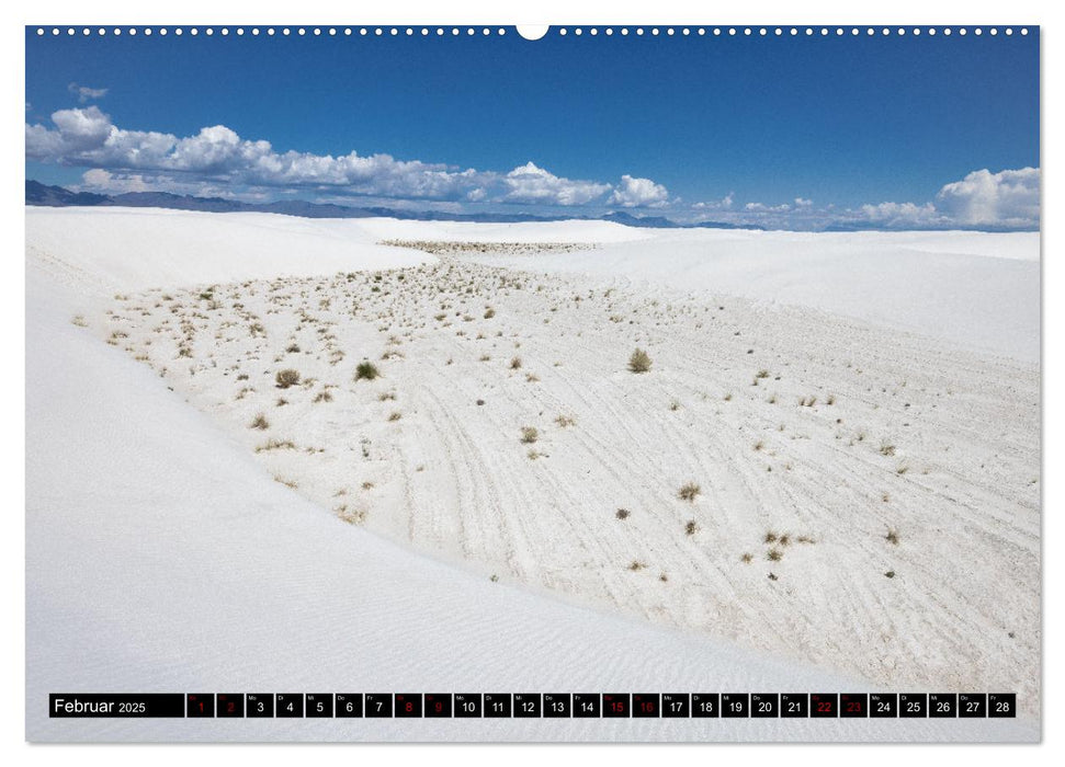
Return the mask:
<svg viewBox="0 0 1065 767">
<path fill-rule="evenodd" d="M 97 191 L 789 228 L 1038 221 L 1035 28 L 529 42 L 31 27 L 25 122 L 27 178 Z"/>
</svg>

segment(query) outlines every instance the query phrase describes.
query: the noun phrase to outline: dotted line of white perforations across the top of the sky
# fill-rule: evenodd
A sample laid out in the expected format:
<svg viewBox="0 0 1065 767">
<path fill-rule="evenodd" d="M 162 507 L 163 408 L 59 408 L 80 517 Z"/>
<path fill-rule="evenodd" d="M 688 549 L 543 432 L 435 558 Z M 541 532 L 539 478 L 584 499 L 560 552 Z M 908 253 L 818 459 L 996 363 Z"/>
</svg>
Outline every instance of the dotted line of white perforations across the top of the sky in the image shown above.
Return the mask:
<svg viewBox="0 0 1065 767">
<path fill-rule="evenodd" d="M 976 36 L 981 36 L 985 34 L 985 32 L 986 34 L 992 36 L 997 36 L 999 34 L 1011 36 L 1015 33 L 1023 36 L 1029 33 L 1028 27 L 1023 27 L 1023 26 L 1016 30 L 1011 26 L 1006 26 L 1006 27 L 996 27 L 996 26 L 992 26 L 992 27 L 981 27 L 981 26 L 975 26 L 975 27 L 966 27 L 966 26 L 959 26 L 959 27 L 950 27 L 950 26 L 943 26 L 943 27 L 920 27 L 920 26 L 915 26 L 915 27 L 904 27 L 904 26 L 899 26 L 899 27 L 890 27 L 890 26 L 877 26 L 877 27 L 874 27 L 874 26 L 863 26 L 863 27 L 859 27 L 859 26 L 848 26 L 848 27 L 843 27 L 843 26 L 834 26 L 834 27 L 829 27 L 829 26 L 817 26 L 817 27 L 815 26 L 786 26 L 786 27 L 781 27 L 781 26 L 773 26 L 773 27 L 767 27 L 767 26 L 757 26 L 757 27 L 751 27 L 751 26 L 713 26 L 713 27 L 634 26 L 634 27 L 627 27 L 627 26 L 622 26 L 622 27 L 611 27 L 611 26 L 608 26 L 608 27 L 601 27 L 601 28 L 594 27 L 594 26 L 592 27 L 560 26 L 554 30 L 554 32 L 556 35 L 560 37 L 566 37 L 569 35 L 573 35 L 575 37 L 580 37 L 586 34 L 592 37 L 596 37 L 600 34 L 603 34 L 607 36 L 612 36 L 615 34 L 620 34 L 622 36 L 628 36 L 632 34 L 637 37 L 643 37 L 643 36 L 660 37 L 662 35 L 667 37 L 671 37 L 676 35 L 680 35 L 684 37 L 691 36 L 691 35 L 696 35 L 701 37 L 706 35 L 712 35 L 714 37 L 738 37 L 738 36 L 743 36 L 743 37 L 783 37 L 783 36 L 842 37 L 845 35 L 850 35 L 852 37 L 862 36 L 862 35 L 866 37 L 872 37 L 872 36 L 904 37 L 907 35 L 920 37 L 921 35 L 927 35 L 929 37 L 934 37 L 936 35 L 940 35 L 940 34 L 944 36 L 956 34 L 964 37 L 970 33 Z M 243 27 L 243 26 L 238 26 L 234 28 L 229 28 L 226 26 L 220 26 L 220 27 L 213 27 L 213 26 L 205 26 L 205 27 L 197 27 L 197 26 L 190 26 L 190 27 L 52 26 L 52 27 L 45 27 L 45 26 L 38 26 L 36 27 L 36 33 L 38 37 L 43 37 L 49 34 L 54 37 L 58 37 L 60 35 L 72 37 L 79 34 L 83 37 L 88 37 L 92 35 L 98 37 L 104 37 L 106 35 L 113 35 L 115 37 L 118 37 L 122 35 L 129 35 L 131 37 L 133 37 L 138 34 L 144 35 L 146 37 L 150 37 L 154 34 L 159 35 L 160 37 L 165 37 L 169 34 L 173 34 L 178 37 L 186 34 L 192 35 L 193 37 L 196 37 L 201 34 L 206 35 L 208 37 L 213 37 L 216 34 L 222 37 L 229 37 L 229 36 L 242 37 L 245 35 L 251 35 L 251 36 L 295 35 L 299 37 L 305 37 L 308 35 L 315 36 L 315 37 L 338 37 L 338 36 L 413 37 L 417 35 L 420 35 L 422 37 L 428 37 L 431 35 L 435 35 L 437 37 L 443 37 L 443 36 L 457 37 L 460 35 L 465 35 L 467 37 L 472 37 L 472 36 L 487 37 L 487 36 L 502 36 L 508 34 L 508 31 L 501 26 L 500 27 L 488 27 L 488 26 L 484 26 L 484 27 L 473 27 L 473 26 L 466 26 L 466 27 L 458 27 L 458 26 L 434 26 L 434 27 L 429 27 L 429 26 L 420 26 L 420 27 L 418 26 L 358 26 L 358 27 L 352 27 L 352 26 L 343 26 L 343 27 L 251 26 L 251 27 Z"/>
</svg>

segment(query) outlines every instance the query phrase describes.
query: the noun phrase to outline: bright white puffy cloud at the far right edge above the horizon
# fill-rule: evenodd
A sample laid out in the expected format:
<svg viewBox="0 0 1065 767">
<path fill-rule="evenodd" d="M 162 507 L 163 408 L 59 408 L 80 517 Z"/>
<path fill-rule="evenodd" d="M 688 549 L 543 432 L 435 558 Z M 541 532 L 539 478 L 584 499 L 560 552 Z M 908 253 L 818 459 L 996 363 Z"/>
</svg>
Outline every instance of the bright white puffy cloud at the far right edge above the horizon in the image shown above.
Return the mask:
<svg viewBox="0 0 1065 767">
<path fill-rule="evenodd" d="M 936 207 L 966 226 L 1038 226 L 1039 182 L 1038 168 L 973 171 L 941 188 Z"/>
</svg>

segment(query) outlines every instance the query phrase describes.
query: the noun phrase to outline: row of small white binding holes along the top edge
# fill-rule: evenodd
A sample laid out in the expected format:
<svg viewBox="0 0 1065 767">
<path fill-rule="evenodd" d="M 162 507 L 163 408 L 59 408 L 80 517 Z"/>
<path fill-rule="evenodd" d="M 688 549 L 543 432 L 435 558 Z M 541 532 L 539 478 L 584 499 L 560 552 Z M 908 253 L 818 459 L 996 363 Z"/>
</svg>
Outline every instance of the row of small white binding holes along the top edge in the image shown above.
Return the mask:
<svg viewBox="0 0 1065 767">
<path fill-rule="evenodd" d="M 44 27 L 41 27 L 41 26 L 37 27 L 37 35 L 45 35 L 45 34 L 48 34 L 48 32 L 49 31 L 48 30 L 45 30 Z M 53 35 L 61 35 L 64 32 L 67 35 L 76 35 L 76 34 L 78 34 L 80 32 L 84 36 L 91 35 L 91 34 L 93 34 L 93 32 L 95 32 L 95 34 L 98 34 L 100 36 L 107 35 L 107 34 L 112 34 L 112 35 L 128 34 L 131 36 L 135 36 L 137 34 L 144 34 L 145 36 L 151 36 L 152 34 L 158 34 L 160 36 L 166 36 L 167 34 L 170 34 L 170 31 L 168 31 L 166 27 L 160 27 L 160 28 L 157 28 L 157 30 L 152 30 L 151 27 L 144 27 L 141 30 L 138 30 L 137 27 L 129 27 L 129 28 L 123 31 L 121 27 L 115 27 L 113 30 L 107 30 L 107 28 L 104 28 L 104 27 L 99 27 L 97 30 L 91 30 L 88 26 L 86 26 L 86 27 L 82 27 L 81 30 L 76 30 L 75 27 L 70 26 L 70 27 L 67 27 L 65 30 L 61 30 L 61 28 L 59 28 L 57 26 L 54 26 L 54 27 L 52 27 L 50 32 L 52 32 Z M 209 36 L 213 36 L 215 34 L 215 32 L 216 32 L 216 30 L 214 30 L 213 27 L 206 27 L 206 28 L 203 30 L 203 34 L 207 35 L 208 37 Z M 408 26 L 408 27 L 396 27 L 396 26 L 390 26 L 390 27 L 381 27 L 381 26 L 365 27 L 365 26 L 362 26 L 362 27 L 358 27 L 358 28 L 352 28 L 350 26 L 345 26 L 343 28 L 337 28 L 335 26 L 330 26 L 330 27 L 322 28 L 322 27 L 317 27 L 316 26 L 316 27 L 311 27 L 309 30 L 306 28 L 306 27 L 296 27 L 295 30 L 290 28 L 290 27 L 282 27 L 282 28 L 276 28 L 276 30 L 274 27 L 268 27 L 265 30 L 260 30 L 259 27 L 251 27 L 250 30 L 245 30 L 243 27 L 237 27 L 233 32 L 237 36 L 241 36 L 241 35 L 245 35 L 245 34 L 251 34 L 253 36 L 254 35 L 259 35 L 259 34 L 265 34 L 268 36 L 271 36 L 271 35 L 282 35 L 282 36 L 285 36 L 285 35 L 293 35 L 293 34 L 301 35 L 301 36 L 305 36 L 307 34 L 310 34 L 310 35 L 316 35 L 316 36 L 327 35 L 327 36 L 330 36 L 330 37 L 336 37 L 337 35 L 343 35 L 343 36 L 348 36 L 348 37 L 350 37 L 352 35 L 359 35 L 359 36 L 362 36 L 362 37 L 370 37 L 370 36 L 383 37 L 383 36 L 386 36 L 386 35 L 387 36 L 406 35 L 406 36 L 409 37 L 409 36 L 415 36 L 417 34 L 420 34 L 423 37 L 428 37 L 428 36 L 433 35 L 433 34 L 437 35 L 438 37 L 443 37 L 444 35 L 449 35 L 449 34 L 452 35 L 452 36 L 458 36 L 458 35 L 462 35 L 463 33 L 465 33 L 467 36 L 477 35 L 478 33 L 480 35 L 483 35 L 483 36 L 488 36 L 488 35 L 492 35 L 492 34 L 496 34 L 496 35 L 505 35 L 505 34 L 507 34 L 507 31 L 505 28 L 502 28 L 502 27 L 499 27 L 499 28 L 496 28 L 496 30 L 491 30 L 491 28 L 489 28 L 487 26 L 486 27 L 483 27 L 483 28 L 474 28 L 472 26 L 465 27 L 465 28 L 458 28 L 457 26 L 452 26 L 452 27 L 438 26 L 438 27 L 432 27 L 432 28 L 427 27 L 427 26 L 422 26 L 422 27 L 419 27 L 419 28 L 415 28 L 415 27 L 411 27 L 411 26 Z M 576 28 L 574 28 L 571 31 L 568 30 L 568 28 L 566 28 L 566 27 L 560 27 L 557 32 L 558 32 L 558 35 L 560 35 L 560 36 L 566 36 L 568 34 L 570 34 L 570 32 L 573 32 L 573 34 L 574 35 L 577 35 L 577 36 L 584 35 L 586 33 L 589 34 L 589 35 L 591 35 L 591 36 L 596 36 L 596 35 L 599 35 L 600 34 L 600 30 L 597 28 L 597 27 L 590 27 L 590 28 L 587 28 L 587 30 L 584 28 L 584 27 L 576 27 Z M 681 27 L 681 28 L 675 28 L 675 27 L 671 27 L 670 26 L 670 27 L 666 27 L 665 30 L 659 30 L 657 26 L 655 26 L 655 27 L 650 27 L 649 30 L 644 30 L 643 27 L 637 26 L 637 27 L 634 27 L 633 30 L 630 30 L 628 27 L 621 27 L 619 30 L 614 30 L 613 27 L 605 27 L 601 32 L 604 35 L 620 34 L 622 36 L 625 36 L 625 35 L 628 35 L 628 34 L 635 34 L 636 36 L 641 36 L 641 35 L 648 34 L 648 33 L 652 36 L 656 36 L 656 35 L 661 34 L 662 32 L 665 32 L 666 35 L 676 35 L 676 34 L 680 34 L 680 35 L 707 35 L 707 34 L 710 34 L 710 35 L 718 36 L 718 37 L 722 36 L 722 35 L 727 35 L 727 36 L 744 35 L 744 36 L 748 36 L 748 37 L 750 37 L 750 36 L 759 36 L 759 37 L 778 36 L 778 37 L 780 37 L 780 36 L 784 36 L 784 35 L 791 35 L 791 36 L 806 35 L 808 37 L 812 37 L 814 35 L 820 35 L 822 37 L 827 37 L 829 35 L 843 36 L 846 34 L 850 34 L 852 36 L 862 35 L 862 34 L 864 34 L 866 36 L 872 36 L 872 35 L 883 35 L 883 36 L 887 36 L 887 35 L 898 35 L 898 36 L 914 35 L 914 36 L 920 36 L 922 34 L 927 34 L 929 36 L 934 36 L 937 34 L 942 34 L 942 35 L 948 35 L 948 36 L 952 35 L 952 34 L 959 34 L 959 35 L 965 36 L 965 35 L 967 35 L 970 33 L 970 30 L 967 30 L 965 27 L 959 27 L 959 28 L 954 30 L 954 28 L 949 27 L 949 26 L 942 27 L 940 30 L 937 30 L 934 27 L 929 27 L 927 30 L 921 30 L 920 27 L 913 27 L 913 28 L 907 30 L 905 27 L 891 28 L 891 27 L 886 27 L 886 26 L 885 27 L 877 27 L 877 28 L 874 28 L 872 26 L 862 27 L 862 28 L 859 28 L 857 26 L 852 26 L 852 27 L 848 27 L 846 30 L 843 27 L 841 27 L 841 26 L 837 26 L 837 27 L 832 27 L 832 28 L 829 28 L 829 27 L 826 27 L 826 26 L 817 27 L 817 28 L 809 27 L 809 26 L 806 26 L 806 27 L 795 27 L 795 26 L 791 26 L 791 27 L 780 27 L 780 26 L 775 26 L 775 27 L 764 27 L 764 26 L 750 27 L 750 26 L 745 26 L 745 27 L 740 27 L 740 28 L 737 28 L 735 26 L 729 26 L 729 27 L 715 26 L 715 27 L 712 27 L 712 28 L 702 27 L 702 26 L 695 27 L 695 28 L 691 28 L 691 27 L 687 27 L 686 26 L 686 27 Z M 977 36 L 978 35 L 983 35 L 984 32 L 985 31 L 983 28 L 981 28 L 981 27 L 976 27 L 976 28 L 972 30 L 972 33 L 974 35 L 977 35 Z M 997 35 L 999 33 L 999 30 L 997 27 L 992 27 L 992 28 L 987 30 L 986 32 L 989 35 Z M 230 30 L 228 27 L 222 27 L 222 28 L 217 30 L 217 33 L 219 35 L 222 35 L 223 37 L 225 37 L 225 36 L 228 36 L 230 34 Z M 1006 27 L 1006 28 L 1002 30 L 1002 33 L 1004 34 L 1007 34 L 1007 35 L 1012 35 L 1013 34 L 1013 28 L 1012 27 Z M 190 34 L 193 37 L 195 37 L 195 36 L 197 36 L 197 35 L 201 34 L 201 30 L 199 27 L 195 27 L 195 26 L 190 27 L 189 30 L 184 30 L 182 27 L 175 27 L 173 30 L 173 34 L 174 35 L 178 35 L 178 36 L 181 36 L 183 34 Z M 1027 35 L 1028 34 L 1028 30 L 1022 27 L 1020 30 L 1020 34 Z"/>
</svg>

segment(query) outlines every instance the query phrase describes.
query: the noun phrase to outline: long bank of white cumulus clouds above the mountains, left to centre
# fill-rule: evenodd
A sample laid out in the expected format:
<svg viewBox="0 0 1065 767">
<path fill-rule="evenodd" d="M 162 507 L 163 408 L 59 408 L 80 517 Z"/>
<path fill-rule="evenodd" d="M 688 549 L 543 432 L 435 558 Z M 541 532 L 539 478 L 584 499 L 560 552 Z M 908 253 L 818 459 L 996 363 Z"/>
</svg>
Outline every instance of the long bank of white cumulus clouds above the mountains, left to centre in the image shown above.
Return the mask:
<svg viewBox="0 0 1065 767">
<path fill-rule="evenodd" d="M 597 181 L 555 175 L 533 162 L 509 173 L 461 170 L 389 154 L 358 152 L 333 157 L 276 151 L 270 141 L 241 138 L 225 125 L 201 128 L 193 136 L 127 130 L 116 126 L 98 106 L 59 110 L 52 125 L 25 126 L 26 158 L 90 168 L 87 186 L 114 186 L 117 180 L 136 183 L 150 174 L 154 184 L 170 179 L 175 187 L 211 183 L 231 187 L 331 190 L 336 194 L 469 203 L 518 203 L 576 206 L 600 199 L 613 187 Z M 140 176 L 144 181 L 147 176 Z M 147 182 L 146 182 L 147 183 Z M 624 199 L 657 204 L 661 187 L 646 179 L 624 176 Z"/>
</svg>

